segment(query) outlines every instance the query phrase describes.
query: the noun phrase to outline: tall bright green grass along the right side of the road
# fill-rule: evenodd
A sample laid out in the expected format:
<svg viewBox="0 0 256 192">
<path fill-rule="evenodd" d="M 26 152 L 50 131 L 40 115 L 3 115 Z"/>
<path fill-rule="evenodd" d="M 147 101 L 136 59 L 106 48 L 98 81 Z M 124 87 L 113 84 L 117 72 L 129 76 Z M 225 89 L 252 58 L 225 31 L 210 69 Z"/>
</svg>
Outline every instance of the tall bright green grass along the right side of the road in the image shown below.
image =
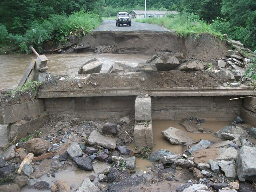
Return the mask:
<svg viewBox="0 0 256 192">
<path fill-rule="evenodd" d="M 198 37 L 203 33 L 221 37 L 220 33 L 212 29 L 211 25 L 199 19 L 199 16 L 187 12 L 182 12 L 176 15 L 171 14 L 162 18 L 137 19 L 136 21 L 161 25 L 169 30 L 173 30 L 179 36 L 184 38 L 190 35 L 196 35 L 196 37 Z"/>
</svg>

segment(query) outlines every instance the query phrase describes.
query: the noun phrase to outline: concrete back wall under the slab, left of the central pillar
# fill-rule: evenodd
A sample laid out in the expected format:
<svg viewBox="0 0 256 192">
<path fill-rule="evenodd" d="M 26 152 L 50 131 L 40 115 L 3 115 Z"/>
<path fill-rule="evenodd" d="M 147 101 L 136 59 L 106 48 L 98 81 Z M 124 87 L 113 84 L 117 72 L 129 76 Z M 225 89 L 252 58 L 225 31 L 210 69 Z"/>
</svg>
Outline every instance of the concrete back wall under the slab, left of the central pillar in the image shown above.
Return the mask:
<svg viewBox="0 0 256 192">
<path fill-rule="evenodd" d="M 134 115 L 135 96 L 74 97 L 45 99 L 50 117 L 62 121 L 79 119 L 107 119 L 126 114 Z"/>
</svg>

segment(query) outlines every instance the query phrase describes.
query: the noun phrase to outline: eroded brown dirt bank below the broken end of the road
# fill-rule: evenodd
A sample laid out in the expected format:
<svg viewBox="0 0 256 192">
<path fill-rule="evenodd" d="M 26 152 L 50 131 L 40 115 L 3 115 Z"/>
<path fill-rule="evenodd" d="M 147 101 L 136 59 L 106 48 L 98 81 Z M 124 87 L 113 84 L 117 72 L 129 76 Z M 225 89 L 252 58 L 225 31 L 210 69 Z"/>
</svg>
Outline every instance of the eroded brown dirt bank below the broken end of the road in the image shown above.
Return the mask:
<svg viewBox="0 0 256 192">
<path fill-rule="evenodd" d="M 182 52 L 186 58 L 205 62 L 223 57 L 228 50 L 226 42 L 208 34 L 181 38 L 172 32 L 156 31 L 96 31 L 83 37 L 78 45 L 93 51 L 99 46 L 116 46 L 118 53 Z"/>
</svg>

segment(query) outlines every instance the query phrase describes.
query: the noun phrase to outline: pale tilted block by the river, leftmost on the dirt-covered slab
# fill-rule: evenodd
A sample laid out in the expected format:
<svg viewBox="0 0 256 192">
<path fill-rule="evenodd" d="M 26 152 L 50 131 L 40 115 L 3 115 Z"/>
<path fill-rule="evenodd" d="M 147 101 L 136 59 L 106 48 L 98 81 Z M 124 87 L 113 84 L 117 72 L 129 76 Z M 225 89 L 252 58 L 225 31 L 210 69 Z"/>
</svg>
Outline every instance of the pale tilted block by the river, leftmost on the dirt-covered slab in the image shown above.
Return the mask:
<svg viewBox="0 0 256 192">
<path fill-rule="evenodd" d="M 94 58 L 81 65 L 79 67 L 78 74 L 99 73 L 101 67 L 102 63 Z"/>
</svg>

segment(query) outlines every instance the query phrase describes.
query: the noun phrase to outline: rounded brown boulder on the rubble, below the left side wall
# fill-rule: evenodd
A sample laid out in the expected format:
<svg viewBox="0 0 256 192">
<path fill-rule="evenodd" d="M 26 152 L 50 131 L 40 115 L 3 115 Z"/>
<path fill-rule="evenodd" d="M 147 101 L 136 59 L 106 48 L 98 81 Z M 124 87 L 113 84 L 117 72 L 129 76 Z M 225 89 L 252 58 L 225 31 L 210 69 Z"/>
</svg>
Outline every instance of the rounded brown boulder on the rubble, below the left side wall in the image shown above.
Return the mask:
<svg viewBox="0 0 256 192">
<path fill-rule="evenodd" d="M 41 138 L 30 139 L 25 143 L 25 149 L 35 155 L 41 155 L 50 147 L 51 143 Z"/>
</svg>

